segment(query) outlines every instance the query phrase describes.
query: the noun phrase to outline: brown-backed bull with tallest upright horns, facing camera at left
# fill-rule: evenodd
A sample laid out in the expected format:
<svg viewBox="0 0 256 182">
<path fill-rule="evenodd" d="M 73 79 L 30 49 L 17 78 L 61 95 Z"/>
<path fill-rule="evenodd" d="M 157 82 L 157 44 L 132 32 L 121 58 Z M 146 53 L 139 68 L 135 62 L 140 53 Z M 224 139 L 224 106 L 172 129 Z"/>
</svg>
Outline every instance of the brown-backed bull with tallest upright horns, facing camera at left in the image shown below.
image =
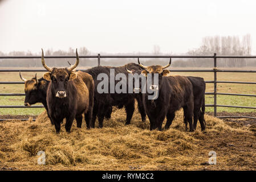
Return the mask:
<svg viewBox="0 0 256 182">
<path fill-rule="evenodd" d="M 46 101 L 56 133 L 59 133 L 60 123 L 64 118 L 66 118 L 65 129 L 70 132 L 74 119 L 81 127 L 82 114 L 88 114 L 89 90 L 82 77 L 73 71 L 78 64 L 79 56 L 76 49 L 76 63 L 70 68 L 50 68 L 45 63 L 42 49 L 42 65 L 48 71 L 44 73 L 43 78 L 50 81 Z M 87 128 L 90 128 L 90 121 L 87 123 Z"/>
</svg>

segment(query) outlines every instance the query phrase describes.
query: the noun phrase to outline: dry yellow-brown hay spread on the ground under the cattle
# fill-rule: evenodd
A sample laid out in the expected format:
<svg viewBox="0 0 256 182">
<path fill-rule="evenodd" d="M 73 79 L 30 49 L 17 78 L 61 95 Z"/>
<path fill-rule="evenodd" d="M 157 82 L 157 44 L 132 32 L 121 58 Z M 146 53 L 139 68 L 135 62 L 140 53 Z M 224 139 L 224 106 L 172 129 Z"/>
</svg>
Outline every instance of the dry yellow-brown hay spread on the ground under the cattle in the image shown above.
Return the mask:
<svg viewBox="0 0 256 182">
<path fill-rule="evenodd" d="M 55 134 L 47 114 L 35 122 L 0 123 L 0 169 L 18 170 L 218 170 L 256 169 L 254 125 L 239 128 L 205 116 L 206 132 L 184 130 L 182 111 L 166 131 L 149 131 L 135 112 L 124 125 L 124 109 L 113 109 L 103 129 L 72 126 L 71 133 Z M 65 123 L 65 122 L 64 122 Z M 46 165 L 38 165 L 38 151 L 46 152 Z M 217 164 L 206 165 L 209 151 Z"/>
</svg>

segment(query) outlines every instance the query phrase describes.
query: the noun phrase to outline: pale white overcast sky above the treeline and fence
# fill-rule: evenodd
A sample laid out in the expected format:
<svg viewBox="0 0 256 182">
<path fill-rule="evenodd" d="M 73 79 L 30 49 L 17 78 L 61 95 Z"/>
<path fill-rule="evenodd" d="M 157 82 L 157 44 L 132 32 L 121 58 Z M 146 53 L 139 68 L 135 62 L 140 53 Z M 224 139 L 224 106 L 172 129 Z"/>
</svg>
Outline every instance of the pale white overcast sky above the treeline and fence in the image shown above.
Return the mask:
<svg viewBox="0 0 256 182">
<path fill-rule="evenodd" d="M 92 52 L 183 53 L 204 36 L 251 34 L 256 55 L 255 1 L 0 2 L 0 51 L 40 52 L 85 46 Z"/>
</svg>

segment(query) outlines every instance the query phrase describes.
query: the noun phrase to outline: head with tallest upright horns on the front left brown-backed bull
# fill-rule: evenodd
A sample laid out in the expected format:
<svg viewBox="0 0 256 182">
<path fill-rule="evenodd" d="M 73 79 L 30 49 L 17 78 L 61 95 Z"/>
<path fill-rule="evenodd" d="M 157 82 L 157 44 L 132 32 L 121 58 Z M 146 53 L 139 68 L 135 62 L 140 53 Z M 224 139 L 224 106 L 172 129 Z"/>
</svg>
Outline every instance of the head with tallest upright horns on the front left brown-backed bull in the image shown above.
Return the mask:
<svg viewBox="0 0 256 182">
<path fill-rule="evenodd" d="M 50 68 L 46 65 L 42 49 L 42 65 L 48 71 L 43 78 L 51 81 L 52 92 L 57 98 L 67 97 L 68 80 L 74 80 L 77 75 L 73 71 L 79 64 L 78 49 L 76 49 L 76 63 L 69 68 Z"/>
</svg>

